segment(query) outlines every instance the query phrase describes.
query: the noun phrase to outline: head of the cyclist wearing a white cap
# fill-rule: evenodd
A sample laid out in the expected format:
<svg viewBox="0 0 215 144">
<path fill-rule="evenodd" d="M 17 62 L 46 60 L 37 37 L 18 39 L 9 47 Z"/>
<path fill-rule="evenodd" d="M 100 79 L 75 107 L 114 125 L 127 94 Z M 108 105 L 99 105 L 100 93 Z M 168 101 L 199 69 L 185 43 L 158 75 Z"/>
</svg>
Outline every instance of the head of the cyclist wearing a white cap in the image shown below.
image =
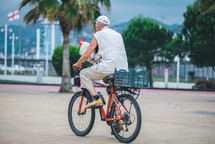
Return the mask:
<svg viewBox="0 0 215 144">
<path fill-rule="evenodd" d="M 99 16 L 96 19 L 96 31 L 100 31 L 103 29 L 105 26 L 109 26 L 110 21 L 106 16 Z"/>
</svg>

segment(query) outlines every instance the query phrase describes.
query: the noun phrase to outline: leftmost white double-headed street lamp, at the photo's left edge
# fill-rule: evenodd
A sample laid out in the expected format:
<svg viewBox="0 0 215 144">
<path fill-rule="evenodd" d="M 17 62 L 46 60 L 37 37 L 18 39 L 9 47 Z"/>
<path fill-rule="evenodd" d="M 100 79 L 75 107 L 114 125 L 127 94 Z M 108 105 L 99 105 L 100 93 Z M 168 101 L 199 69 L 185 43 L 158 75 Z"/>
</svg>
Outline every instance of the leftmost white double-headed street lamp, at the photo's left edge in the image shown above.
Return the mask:
<svg viewBox="0 0 215 144">
<path fill-rule="evenodd" d="M 7 75 L 7 31 L 8 31 L 8 27 L 7 27 L 7 24 L 5 24 L 5 28 L 1 29 L 1 32 L 5 32 L 5 37 L 4 37 L 4 76 Z M 12 32 L 12 29 L 9 29 L 9 32 Z"/>
</svg>

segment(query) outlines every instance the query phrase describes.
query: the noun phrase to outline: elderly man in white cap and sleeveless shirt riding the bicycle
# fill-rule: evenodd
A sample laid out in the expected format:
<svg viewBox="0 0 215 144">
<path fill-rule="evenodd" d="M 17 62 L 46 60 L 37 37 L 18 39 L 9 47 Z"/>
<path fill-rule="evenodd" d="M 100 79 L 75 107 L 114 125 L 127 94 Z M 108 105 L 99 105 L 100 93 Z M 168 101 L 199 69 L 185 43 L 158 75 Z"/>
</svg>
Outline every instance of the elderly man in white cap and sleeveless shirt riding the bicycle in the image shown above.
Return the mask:
<svg viewBox="0 0 215 144">
<path fill-rule="evenodd" d="M 96 33 L 86 50 L 77 63 L 73 64 L 74 69 L 81 69 L 84 63 L 91 56 L 98 46 L 100 59 L 96 64 L 81 70 L 81 86 L 86 88 L 93 96 L 93 101 L 86 108 L 102 106 L 103 101 L 98 96 L 93 80 L 101 80 L 106 76 L 113 75 L 115 68 L 128 70 L 128 62 L 125 46 L 121 34 L 109 28 L 110 21 L 106 16 L 99 16 L 96 19 Z"/>
</svg>

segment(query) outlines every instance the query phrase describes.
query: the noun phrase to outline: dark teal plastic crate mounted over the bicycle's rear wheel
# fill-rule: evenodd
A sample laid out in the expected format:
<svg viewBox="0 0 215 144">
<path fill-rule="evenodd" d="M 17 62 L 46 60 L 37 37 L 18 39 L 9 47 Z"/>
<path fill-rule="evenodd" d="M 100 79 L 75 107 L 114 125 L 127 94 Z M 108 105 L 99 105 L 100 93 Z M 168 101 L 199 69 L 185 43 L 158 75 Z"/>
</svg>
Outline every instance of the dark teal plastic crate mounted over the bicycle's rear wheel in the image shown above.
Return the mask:
<svg viewBox="0 0 215 144">
<path fill-rule="evenodd" d="M 129 88 L 148 88 L 149 72 L 136 72 L 115 69 L 114 86 Z"/>
</svg>

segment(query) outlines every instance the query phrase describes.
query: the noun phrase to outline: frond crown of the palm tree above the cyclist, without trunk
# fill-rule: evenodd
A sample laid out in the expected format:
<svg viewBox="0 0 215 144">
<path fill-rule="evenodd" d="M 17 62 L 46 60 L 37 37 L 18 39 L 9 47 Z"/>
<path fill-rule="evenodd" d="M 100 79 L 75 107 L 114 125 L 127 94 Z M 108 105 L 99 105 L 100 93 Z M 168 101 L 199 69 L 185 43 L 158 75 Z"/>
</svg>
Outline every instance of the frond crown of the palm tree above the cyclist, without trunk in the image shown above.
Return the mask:
<svg viewBox="0 0 215 144">
<path fill-rule="evenodd" d="M 63 31 L 71 29 L 80 32 L 88 23 L 94 29 L 94 20 L 101 15 L 100 6 L 104 5 L 110 10 L 110 0 L 22 0 L 20 9 L 27 4 L 32 5 L 24 17 L 26 24 L 30 21 L 36 23 L 39 16 L 49 21 L 59 21 Z"/>
</svg>

